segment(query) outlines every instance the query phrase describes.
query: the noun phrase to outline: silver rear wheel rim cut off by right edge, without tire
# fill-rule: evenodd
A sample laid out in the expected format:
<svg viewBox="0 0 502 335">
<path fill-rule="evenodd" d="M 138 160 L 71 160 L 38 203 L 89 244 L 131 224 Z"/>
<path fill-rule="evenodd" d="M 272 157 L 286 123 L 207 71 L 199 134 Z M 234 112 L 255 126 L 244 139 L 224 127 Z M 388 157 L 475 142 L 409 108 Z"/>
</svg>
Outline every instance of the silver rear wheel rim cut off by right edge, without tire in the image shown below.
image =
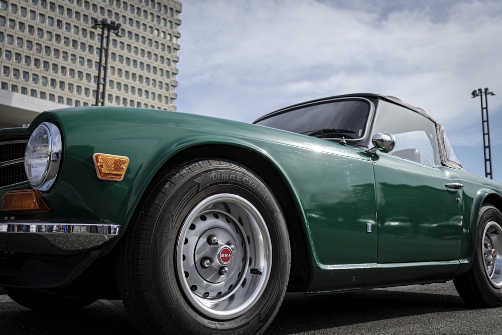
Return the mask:
<svg viewBox="0 0 502 335">
<path fill-rule="evenodd" d="M 483 266 L 488 281 L 496 288 L 502 288 L 502 228 L 490 221 L 484 228 L 482 245 Z"/>
</svg>

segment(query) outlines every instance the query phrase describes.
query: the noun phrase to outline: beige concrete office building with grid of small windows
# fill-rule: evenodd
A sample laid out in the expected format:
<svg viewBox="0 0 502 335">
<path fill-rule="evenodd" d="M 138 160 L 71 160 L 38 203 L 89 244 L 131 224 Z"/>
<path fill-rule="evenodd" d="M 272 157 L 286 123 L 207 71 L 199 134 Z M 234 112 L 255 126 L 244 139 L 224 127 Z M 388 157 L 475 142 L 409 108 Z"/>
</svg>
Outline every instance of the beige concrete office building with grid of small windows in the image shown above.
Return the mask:
<svg viewBox="0 0 502 335">
<path fill-rule="evenodd" d="M 98 82 L 104 105 L 176 110 L 181 8 L 176 0 L 0 0 L 0 127 L 94 105 Z M 96 19 L 121 25 L 110 33 L 104 83 Z"/>
</svg>

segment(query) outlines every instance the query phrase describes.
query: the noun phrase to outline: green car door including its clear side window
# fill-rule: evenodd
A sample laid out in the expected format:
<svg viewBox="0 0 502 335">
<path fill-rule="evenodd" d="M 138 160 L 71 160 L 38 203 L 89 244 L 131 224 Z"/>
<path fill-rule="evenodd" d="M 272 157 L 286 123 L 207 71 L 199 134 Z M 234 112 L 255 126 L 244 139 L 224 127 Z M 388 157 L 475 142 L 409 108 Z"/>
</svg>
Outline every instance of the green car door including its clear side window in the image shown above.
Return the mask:
<svg viewBox="0 0 502 335">
<path fill-rule="evenodd" d="M 462 233 L 462 189 L 442 167 L 436 124 L 425 114 L 381 101 L 373 134 L 389 132 L 395 149 L 373 161 L 378 263 L 456 260 Z"/>
</svg>

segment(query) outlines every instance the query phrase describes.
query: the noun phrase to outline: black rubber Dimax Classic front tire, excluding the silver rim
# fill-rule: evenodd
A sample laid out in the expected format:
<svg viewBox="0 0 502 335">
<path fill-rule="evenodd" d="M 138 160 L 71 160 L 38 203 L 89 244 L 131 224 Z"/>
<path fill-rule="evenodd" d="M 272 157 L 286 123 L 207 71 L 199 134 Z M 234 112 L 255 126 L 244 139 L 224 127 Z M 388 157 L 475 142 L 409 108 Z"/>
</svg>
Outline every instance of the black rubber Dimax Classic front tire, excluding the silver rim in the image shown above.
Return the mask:
<svg viewBox="0 0 502 335">
<path fill-rule="evenodd" d="M 186 162 L 160 175 L 152 185 L 131 222 L 126 242 L 122 244 L 122 260 L 118 261 L 124 304 L 128 310 L 137 311 L 134 314 L 140 329 L 179 332 L 175 329 L 178 328 L 199 334 L 263 332 L 282 302 L 291 262 L 284 215 L 270 188 L 252 170 L 220 159 Z M 244 314 L 222 321 L 204 317 L 186 301 L 179 288 L 174 253 L 179 230 L 191 208 L 201 199 L 225 190 L 240 193 L 259 209 L 267 222 L 273 253 L 271 275 L 261 298 Z M 170 210 L 173 206 L 174 211 Z M 159 251 L 159 245 L 165 251 Z M 152 255 L 160 257 L 159 263 L 149 262 Z M 146 273 L 135 275 L 145 267 Z M 149 325 L 152 321 L 156 324 L 153 328 Z"/>
</svg>

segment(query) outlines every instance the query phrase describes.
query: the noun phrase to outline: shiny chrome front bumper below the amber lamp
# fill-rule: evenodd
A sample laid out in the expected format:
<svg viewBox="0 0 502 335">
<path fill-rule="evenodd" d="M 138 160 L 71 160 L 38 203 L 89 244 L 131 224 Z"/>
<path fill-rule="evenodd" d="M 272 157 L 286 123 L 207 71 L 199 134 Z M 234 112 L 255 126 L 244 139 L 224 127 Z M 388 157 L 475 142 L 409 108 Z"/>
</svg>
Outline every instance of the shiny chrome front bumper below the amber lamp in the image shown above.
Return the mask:
<svg viewBox="0 0 502 335">
<path fill-rule="evenodd" d="M 108 221 L 67 222 L 0 220 L 0 251 L 73 255 L 113 240 L 120 229 L 120 225 Z"/>
</svg>

